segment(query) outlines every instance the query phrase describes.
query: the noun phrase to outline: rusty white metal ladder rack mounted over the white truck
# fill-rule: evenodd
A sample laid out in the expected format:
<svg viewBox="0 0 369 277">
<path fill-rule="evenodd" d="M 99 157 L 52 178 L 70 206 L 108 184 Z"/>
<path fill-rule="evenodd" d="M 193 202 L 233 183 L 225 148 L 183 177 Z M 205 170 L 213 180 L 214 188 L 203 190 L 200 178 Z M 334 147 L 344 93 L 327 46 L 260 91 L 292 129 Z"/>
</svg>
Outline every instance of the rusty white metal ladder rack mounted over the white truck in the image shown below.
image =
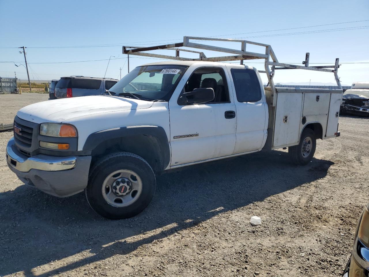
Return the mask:
<svg viewBox="0 0 369 277">
<path fill-rule="evenodd" d="M 218 46 L 213 46 L 213 45 L 200 44 L 197 42 L 190 42 L 190 40 L 241 42 L 241 49 L 238 50 L 238 49 L 232 49 L 232 48 L 224 48 L 224 47 L 218 47 Z M 265 47 L 265 53 L 254 53 L 254 52 L 246 51 L 247 44 Z M 233 55 L 208 58 L 206 57 L 206 55 L 204 55 L 203 52 L 193 51 L 193 50 L 188 50 L 188 49 L 181 49 L 178 47 L 190 47 L 190 48 L 197 48 L 197 49 L 210 50 L 210 51 L 216 51 L 216 52 L 225 52 L 225 53 L 231 53 Z M 162 50 L 162 49 L 175 50 L 176 51 L 175 56 L 153 54 L 153 53 L 146 52 L 146 51 Z M 200 57 L 199 58 L 180 57 L 179 56 L 180 51 L 197 53 L 199 54 Z M 259 43 L 259 42 L 254 42 L 254 41 L 248 41 L 248 40 L 236 40 L 232 38 L 208 38 L 208 37 L 185 36 L 183 37 L 183 42 L 178 42 L 178 43 L 173 43 L 173 44 L 165 44 L 165 45 L 158 45 L 158 46 L 151 46 L 151 47 L 123 46 L 123 54 L 139 55 L 139 56 L 145 56 L 145 57 L 156 57 L 156 58 L 163 58 L 163 59 L 174 59 L 174 60 L 179 60 L 179 61 L 221 62 L 221 61 L 239 61 L 240 60 L 241 64 L 243 64 L 244 60 L 264 59 L 265 60 L 265 64 L 264 64 L 265 70 L 259 70 L 259 72 L 266 73 L 268 77 L 268 84 L 271 88 L 272 94 L 275 93 L 275 85 L 273 82 L 273 77 L 274 77 L 276 69 L 305 69 L 305 70 L 313 70 L 313 71 L 321 71 L 321 72 L 332 72 L 334 73 L 335 81 L 337 82 L 338 88 L 342 89 L 341 82 L 339 81 L 339 78 L 337 75 L 337 71 L 339 68 L 338 58 L 335 60 L 334 65 L 309 66 L 310 53 L 306 53 L 305 61 L 303 61 L 303 65 L 284 64 L 284 63 L 278 62 L 276 55 L 274 54 L 274 51 L 270 45 Z M 276 99 L 273 98 L 273 106 L 275 106 L 276 104 L 275 101 Z"/>
</svg>

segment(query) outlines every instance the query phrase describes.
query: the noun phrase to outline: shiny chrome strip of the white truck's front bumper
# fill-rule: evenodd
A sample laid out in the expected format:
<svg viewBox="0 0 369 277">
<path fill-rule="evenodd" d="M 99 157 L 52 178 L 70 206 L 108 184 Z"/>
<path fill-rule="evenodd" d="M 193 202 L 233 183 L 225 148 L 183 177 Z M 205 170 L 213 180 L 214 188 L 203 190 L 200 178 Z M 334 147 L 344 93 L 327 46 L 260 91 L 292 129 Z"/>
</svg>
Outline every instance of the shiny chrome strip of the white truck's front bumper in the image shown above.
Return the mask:
<svg viewBox="0 0 369 277">
<path fill-rule="evenodd" d="M 27 157 L 17 150 L 14 138 L 9 140 L 6 147 L 6 159 L 9 167 L 13 167 L 20 172 L 29 172 L 31 169 L 44 171 L 68 170 L 74 168 L 77 163 L 77 157 L 54 157 L 44 154 Z"/>
</svg>

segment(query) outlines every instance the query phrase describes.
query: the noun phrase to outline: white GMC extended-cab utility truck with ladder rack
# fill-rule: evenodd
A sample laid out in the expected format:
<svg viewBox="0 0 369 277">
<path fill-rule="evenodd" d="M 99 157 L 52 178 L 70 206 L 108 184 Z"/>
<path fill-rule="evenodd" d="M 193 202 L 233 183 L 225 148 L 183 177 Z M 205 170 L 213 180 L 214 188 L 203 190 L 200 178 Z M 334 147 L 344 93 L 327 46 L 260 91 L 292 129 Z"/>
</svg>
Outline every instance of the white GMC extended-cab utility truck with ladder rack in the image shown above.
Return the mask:
<svg viewBox="0 0 369 277">
<path fill-rule="evenodd" d="M 327 66 L 280 64 L 269 45 L 267 55 L 257 54 L 244 49 L 256 42 L 245 41 L 234 56 L 206 58 L 192 51 L 200 58 L 179 57 L 173 47 L 188 47 L 189 39 L 158 47 L 175 49 L 173 61 L 138 66 L 107 95 L 20 109 L 6 150 L 10 169 L 25 184 L 51 195 L 85 191 L 94 211 L 121 219 L 149 205 L 159 172 L 284 147 L 293 162 L 304 165 L 313 158 L 317 138 L 339 136 L 341 89 L 273 85 L 278 67 L 328 71 Z M 225 49 L 217 48 L 231 52 Z M 150 50 L 124 47 L 131 55 L 169 57 Z M 263 87 L 254 67 L 216 62 L 252 57 L 266 60 L 269 87 Z M 328 72 L 337 75 L 338 62 L 331 67 Z"/>
</svg>

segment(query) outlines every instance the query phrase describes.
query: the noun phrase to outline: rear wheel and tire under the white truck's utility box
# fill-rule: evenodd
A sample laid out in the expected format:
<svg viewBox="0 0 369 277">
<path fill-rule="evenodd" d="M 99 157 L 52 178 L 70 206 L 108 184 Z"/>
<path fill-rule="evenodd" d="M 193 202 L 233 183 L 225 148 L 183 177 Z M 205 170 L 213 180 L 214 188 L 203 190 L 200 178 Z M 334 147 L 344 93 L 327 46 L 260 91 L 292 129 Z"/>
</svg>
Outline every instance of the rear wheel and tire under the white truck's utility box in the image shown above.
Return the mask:
<svg viewBox="0 0 369 277">
<path fill-rule="evenodd" d="M 306 165 L 313 159 L 316 146 L 317 139 L 314 131 L 306 128 L 301 134 L 300 143 L 288 147 L 288 154 L 293 163 Z"/>
</svg>

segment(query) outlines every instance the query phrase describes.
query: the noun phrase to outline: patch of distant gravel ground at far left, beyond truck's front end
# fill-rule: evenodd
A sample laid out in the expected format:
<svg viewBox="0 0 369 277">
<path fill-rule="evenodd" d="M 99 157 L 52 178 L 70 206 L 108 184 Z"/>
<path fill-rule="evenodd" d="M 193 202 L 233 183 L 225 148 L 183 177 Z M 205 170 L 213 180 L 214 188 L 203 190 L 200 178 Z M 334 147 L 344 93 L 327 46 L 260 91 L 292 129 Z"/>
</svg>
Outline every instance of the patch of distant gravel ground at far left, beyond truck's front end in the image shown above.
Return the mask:
<svg viewBox="0 0 369 277">
<path fill-rule="evenodd" d="M 49 93 L 0 94 L 0 123 L 13 123 L 15 114 L 20 108 L 48 99 Z"/>
</svg>

